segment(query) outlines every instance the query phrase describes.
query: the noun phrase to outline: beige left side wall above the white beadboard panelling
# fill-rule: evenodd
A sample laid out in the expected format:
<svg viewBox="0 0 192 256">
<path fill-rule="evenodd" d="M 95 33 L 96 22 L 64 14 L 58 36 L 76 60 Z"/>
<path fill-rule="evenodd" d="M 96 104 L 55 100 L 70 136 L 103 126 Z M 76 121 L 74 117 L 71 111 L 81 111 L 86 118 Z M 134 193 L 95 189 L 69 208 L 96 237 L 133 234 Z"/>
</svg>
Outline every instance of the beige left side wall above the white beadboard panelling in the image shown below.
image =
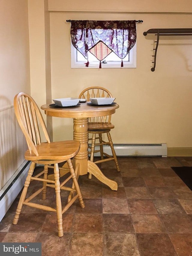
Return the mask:
<svg viewBox="0 0 192 256">
<path fill-rule="evenodd" d="M 6 107 L 18 91 L 30 93 L 27 1 L 1 0 L 0 10 L 0 107 Z"/>
</svg>

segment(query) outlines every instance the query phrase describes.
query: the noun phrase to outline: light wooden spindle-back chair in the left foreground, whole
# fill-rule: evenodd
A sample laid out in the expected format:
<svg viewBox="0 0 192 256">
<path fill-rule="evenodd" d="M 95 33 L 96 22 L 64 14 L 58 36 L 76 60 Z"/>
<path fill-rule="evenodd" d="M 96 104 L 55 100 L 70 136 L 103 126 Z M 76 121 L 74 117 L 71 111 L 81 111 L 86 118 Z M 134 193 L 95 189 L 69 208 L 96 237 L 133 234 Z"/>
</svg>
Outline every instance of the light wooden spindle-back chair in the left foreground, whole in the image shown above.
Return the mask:
<svg viewBox="0 0 192 256">
<path fill-rule="evenodd" d="M 50 142 L 49 135 L 41 115 L 41 112 L 35 103 L 35 101 L 26 93 L 20 92 L 14 98 L 14 109 L 17 121 L 22 129 L 23 134 L 26 137 L 28 150 L 25 152 L 25 159 L 32 161 L 31 166 L 29 168 L 28 175 L 26 177 L 25 185 L 19 199 L 19 203 L 16 209 L 16 214 L 13 219 L 13 224 L 17 224 L 20 212 L 22 210 L 23 205 L 31 206 L 38 209 L 43 209 L 46 211 L 52 211 L 57 213 L 57 221 L 58 221 L 58 236 L 63 236 L 63 218 L 62 214 L 75 202 L 78 198 L 80 202 L 80 206 L 82 208 L 85 207 L 84 202 L 82 200 L 81 191 L 79 188 L 79 184 L 76 179 L 76 173 L 73 169 L 71 158 L 75 156 L 80 148 L 79 141 L 76 140 L 67 140 L 67 141 L 59 141 L 59 142 Z M 41 126 L 42 131 L 44 132 L 46 142 L 41 143 L 39 126 Z M 59 170 L 64 169 L 58 166 L 58 163 L 67 161 L 70 176 L 65 179 L 60 184 Z M 43 164 L 44 170 L 36 176 L 32 176 L 33 171 L 35 169 L 36 164 Z M 52 164 L 52 165 L 50 165 Z M 50 180 L 47 178 L 48 176 L 48 168 L 52 168 L 54 170 L 54 180 Z M 78 166 L 76 166 L 77 171 Z M 40 176 L 43 175 L 43 178 Z M 73 187 L 68 188 L 65 187 L 64 184 L 73 179 Z M 27 190 L 32 180 L 38 180 L 43 182 L 42 188 L 38 189 L 31 196 L 26 198 Z M 56 209 L 50 206 L 44 206 L 37 203 L 30 202 L 34 197 L 36 197 L 42 191 L 42 199 L 46 199 L 46 187 L 51 187 L 55 189 L 56 194 Z M 76 192 L 76 195 L 65 205 L 62 209 L 61 206 L 61 189 L 67 191 Z"/>
</svg>

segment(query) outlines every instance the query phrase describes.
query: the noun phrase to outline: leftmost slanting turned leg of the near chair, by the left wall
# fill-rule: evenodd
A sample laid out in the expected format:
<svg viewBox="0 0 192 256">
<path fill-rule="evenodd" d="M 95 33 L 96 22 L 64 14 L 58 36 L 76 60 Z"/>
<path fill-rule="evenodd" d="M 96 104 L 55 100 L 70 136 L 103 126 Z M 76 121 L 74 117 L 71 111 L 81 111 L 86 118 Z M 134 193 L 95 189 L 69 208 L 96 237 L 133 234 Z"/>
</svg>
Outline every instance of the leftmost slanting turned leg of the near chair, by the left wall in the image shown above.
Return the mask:
<svg viewBox="0 0 192 256">
<path fill-rule="evenodd" d="M 31 182 L 31 176 L 33 175 L 33 171 L 35 169 L 36 164 L 34 162 L 31 163 L 30 168 L 29 168 L 29 172 L 25 181 L 25 185 L 21 194 L 21 197 L 19 199 L 19 203 L 16 209 L 16 214 L 15 217 L 13 219 L 13 224 L 16 225 L 18 223 L 19 220 L 19 215 L 21 213 L 22 207 L 23 207 L 23 202 L 25 201 L 26 198 L 26 194 L 27 194 L 27 190 L 29 188 L 29 184 Z"/>
</svg>

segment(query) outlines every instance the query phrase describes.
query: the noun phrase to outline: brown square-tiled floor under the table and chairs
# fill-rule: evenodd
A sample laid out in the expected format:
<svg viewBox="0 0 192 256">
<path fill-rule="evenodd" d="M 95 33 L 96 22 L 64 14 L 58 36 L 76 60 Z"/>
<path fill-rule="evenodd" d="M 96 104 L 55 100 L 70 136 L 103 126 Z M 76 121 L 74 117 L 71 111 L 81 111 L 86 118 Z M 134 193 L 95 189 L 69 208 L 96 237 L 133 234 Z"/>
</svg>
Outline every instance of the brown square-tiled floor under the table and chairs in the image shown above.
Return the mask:
<svg viewBox="0 0 192 256">
<path fill-rule="evenodd" d="M 18 196 L 0 223 L 0 242 L 41 242 L 43 256 L 191 256 L 192 191 L 171 167 L 192 166 L 192 157 L 118 160 L 120 173 L 113 161 L 100 164 L 118 191 L 95 177 L 79 177 L 85 208 L 77 201 L 64 213 L 63 237 L 57 236 L 55 213 L 28 206 L 11 224 Z M 39 183 L 31 185 L 29 194 Z M 53 192 L 48 190 L 44 203 L 54 204 Z"/>
</svg>

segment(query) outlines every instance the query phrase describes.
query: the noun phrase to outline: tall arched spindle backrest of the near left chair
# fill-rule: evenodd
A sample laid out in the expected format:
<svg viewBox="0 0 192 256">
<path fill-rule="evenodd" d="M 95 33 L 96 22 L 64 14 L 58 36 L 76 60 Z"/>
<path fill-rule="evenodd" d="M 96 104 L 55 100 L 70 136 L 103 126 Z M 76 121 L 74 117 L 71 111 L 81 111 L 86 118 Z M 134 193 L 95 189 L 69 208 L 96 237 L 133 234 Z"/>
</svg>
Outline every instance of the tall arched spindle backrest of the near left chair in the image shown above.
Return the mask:
<svg viewBox="0 0 192 256">
<path fill-rule="evenodd" d="M 36 147 L 37 144 L 41 144 L 39 125 L 41 125 L 48 143 L 50 143 L 50 138 L 37 104 L 30 95 L 20 92 L 15 95 L 14 109 L 17 121 L 25 135 L 30 154 L 33 152 L 38 156 Z"/>
</svg>

